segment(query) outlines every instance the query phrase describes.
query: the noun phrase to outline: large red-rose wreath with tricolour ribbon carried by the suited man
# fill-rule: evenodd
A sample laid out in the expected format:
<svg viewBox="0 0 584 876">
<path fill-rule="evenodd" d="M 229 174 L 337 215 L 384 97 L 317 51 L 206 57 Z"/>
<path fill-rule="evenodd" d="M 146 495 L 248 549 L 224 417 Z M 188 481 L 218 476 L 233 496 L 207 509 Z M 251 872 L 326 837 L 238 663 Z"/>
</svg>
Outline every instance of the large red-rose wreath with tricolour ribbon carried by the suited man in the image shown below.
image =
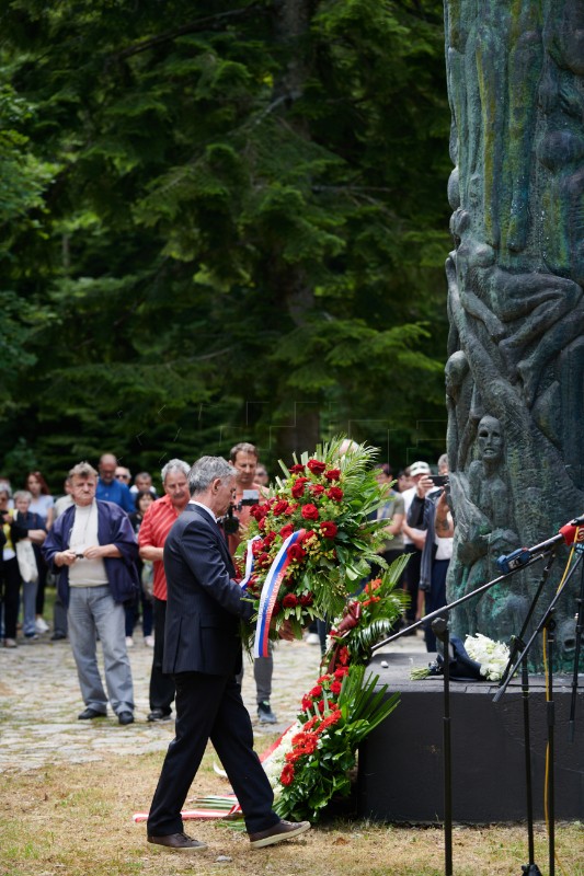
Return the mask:
<svg viewBox="0 0 584 876">
<path fill-rule="evenodd" d="M 342 445 L 322 445 L 289 468 L 280 462 L 285 476 L 274 494 L 251 509 L 250 541 L 239 553 L 256 609 L 256 648 L 285 620 L 300 637 L 314 618 L 337 618 L 371 563 L 385 565 L 377 551 L 387 520 L 371 519 L 385 500 L 371 468 L 376 450 L 352 445 L 343 452 Z"/>
</svg>

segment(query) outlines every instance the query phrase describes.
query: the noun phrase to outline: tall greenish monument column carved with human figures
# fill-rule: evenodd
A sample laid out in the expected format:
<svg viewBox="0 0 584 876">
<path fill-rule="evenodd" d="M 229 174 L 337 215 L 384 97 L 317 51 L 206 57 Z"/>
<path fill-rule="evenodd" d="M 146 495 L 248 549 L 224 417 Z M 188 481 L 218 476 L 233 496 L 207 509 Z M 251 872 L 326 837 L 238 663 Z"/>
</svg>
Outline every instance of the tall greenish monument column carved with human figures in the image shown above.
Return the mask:
<svg viewBox="0 0 584 876">
<path fill-rule="evenodd" d="M 501 554 L 584 511 L 584 0 L 447 0 L 445 14 L 456 599 L 497 577 Z M 453 632 L 517 633 L 541 567 L 456 609 Z M 580 581 L 556 612 L 564 668 Z"/>
</svg>

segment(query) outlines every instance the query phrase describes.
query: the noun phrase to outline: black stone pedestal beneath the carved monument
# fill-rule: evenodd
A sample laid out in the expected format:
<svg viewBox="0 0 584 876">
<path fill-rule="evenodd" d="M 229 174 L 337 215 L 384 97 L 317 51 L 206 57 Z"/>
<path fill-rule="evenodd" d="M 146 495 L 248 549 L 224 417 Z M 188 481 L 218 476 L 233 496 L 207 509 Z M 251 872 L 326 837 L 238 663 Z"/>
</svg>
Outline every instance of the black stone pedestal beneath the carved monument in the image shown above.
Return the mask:
<svg viewBox="0 0 584 876">
<path fill-rule="evenodd" d="M 369 670 L 400 692 L 400 704 L 359 749 L 358 815 L 392 822 L 444 818 L 443 681 L 411 681 L 413 667 L 435 655 L 379 652 Z M 387 662 L 388 666 L 381 666 Z M 568 741 L 571 683 L 554 677 L 556 818 L 584 819 L 584 676 L 580 676 L 574 741 Z M 534 817 L 543 818 L 547 714 L 545 683 L 531 676 L 531 770 Z M 520 682 L 514 679 L 499 703 L 490 682 L 450 684 L 453 817 L 489 823 L 526 818 L 525 749 Z"/>
</svg>

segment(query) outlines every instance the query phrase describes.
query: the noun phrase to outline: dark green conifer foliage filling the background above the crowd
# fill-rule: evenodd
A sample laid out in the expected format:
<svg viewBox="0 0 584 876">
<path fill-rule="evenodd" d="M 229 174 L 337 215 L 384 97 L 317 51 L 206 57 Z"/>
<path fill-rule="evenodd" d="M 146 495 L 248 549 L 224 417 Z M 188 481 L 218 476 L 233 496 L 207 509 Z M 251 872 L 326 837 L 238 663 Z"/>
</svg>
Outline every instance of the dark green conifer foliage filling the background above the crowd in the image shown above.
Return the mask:
<svg viewBox="0 0 584 876">
<path fill-rule="evenodd" d="M 0 453 L 440 452 L 442 3 L 1 9 Z"/>
</svg>

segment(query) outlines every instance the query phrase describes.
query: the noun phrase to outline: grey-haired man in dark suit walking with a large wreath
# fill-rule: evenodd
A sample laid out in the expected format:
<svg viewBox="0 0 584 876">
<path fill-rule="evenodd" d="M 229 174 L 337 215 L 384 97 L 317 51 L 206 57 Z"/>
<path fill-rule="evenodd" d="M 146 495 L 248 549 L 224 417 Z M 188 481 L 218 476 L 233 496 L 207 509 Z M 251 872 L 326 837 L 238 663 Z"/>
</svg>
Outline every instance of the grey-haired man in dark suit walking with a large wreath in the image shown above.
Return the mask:
<svg viewBox="0 0 584 876">
<path fill-rule="evenodd" d="M 308 821 L 283 821 L 253 751 L 250 716 L 236 675 L 241 669 L 239 624 L 251 603 L 217 526 L 232 503 L 234 471 L 219 457 L 203 457 L 188 474 L 192 500 L 164 544 L 168 584 L 164 672 L 176 684 L 175 738 L 169 746 L 150 807 L 148 842 L 176 851 L 205 849 L 184 833 L 181 808 L 208 740 L 224 764 L 245 818 L 253 848 L 293 839 Z"/>
</svg>

